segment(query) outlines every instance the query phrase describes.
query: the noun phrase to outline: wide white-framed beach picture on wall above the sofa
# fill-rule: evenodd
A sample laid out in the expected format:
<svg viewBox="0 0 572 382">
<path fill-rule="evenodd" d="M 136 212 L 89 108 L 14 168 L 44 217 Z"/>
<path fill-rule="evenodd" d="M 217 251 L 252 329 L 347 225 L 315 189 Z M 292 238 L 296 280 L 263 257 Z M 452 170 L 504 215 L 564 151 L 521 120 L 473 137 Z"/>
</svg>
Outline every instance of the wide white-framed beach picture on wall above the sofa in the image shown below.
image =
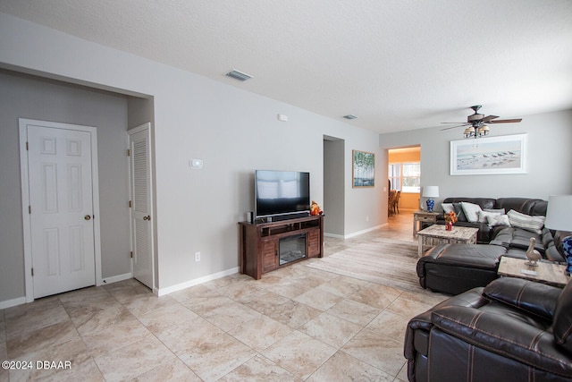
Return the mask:
<svg viewBox="0 0 572 382">
<path fill-rule="evenodd" d="M 451 175 L 526 174 L 527 134 L 450 141 Z"/>
</svg>

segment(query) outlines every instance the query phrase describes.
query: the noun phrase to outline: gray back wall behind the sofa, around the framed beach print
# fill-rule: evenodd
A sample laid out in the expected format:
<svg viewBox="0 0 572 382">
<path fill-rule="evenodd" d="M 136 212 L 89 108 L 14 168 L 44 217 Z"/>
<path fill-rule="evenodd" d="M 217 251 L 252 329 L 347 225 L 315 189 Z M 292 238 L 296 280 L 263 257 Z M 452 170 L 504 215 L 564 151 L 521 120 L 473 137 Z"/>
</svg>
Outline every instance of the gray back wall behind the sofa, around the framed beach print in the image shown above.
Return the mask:
<svg viewBox="0 0 572 382">
<path fill-rule="evenodd" d="M 498 113 L 501 114 L 501 110 Z M 463 129 L 440 128 L 380 135 L 380 147 L 421 145 L 421 185 L 438 185 L 440 198 L 524 197 L 548 199 L 572 194 L 572 110 L 523 117 L 521 123 L 491 125 L 491 136 L 528 134 L 527 174 L 450 175 L 450 141 L 462 140 Z M 425 199 L 422 201 L 425 203 Z"/>
</svg>

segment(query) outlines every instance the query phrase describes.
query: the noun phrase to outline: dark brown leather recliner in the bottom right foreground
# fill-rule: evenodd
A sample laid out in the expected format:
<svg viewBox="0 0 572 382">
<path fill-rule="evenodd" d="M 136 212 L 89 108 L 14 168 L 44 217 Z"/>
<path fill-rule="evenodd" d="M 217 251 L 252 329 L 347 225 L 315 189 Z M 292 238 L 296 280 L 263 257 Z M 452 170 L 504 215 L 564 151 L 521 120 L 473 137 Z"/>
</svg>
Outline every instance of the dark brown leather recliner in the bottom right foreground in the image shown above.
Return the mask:
<svg viewBox="0 0 572 382">
<path fill-rule="evenodd" d="M 572 381 L 572 283 L 502 277 L 408 323 L 410 382 Z"/>
</svg>

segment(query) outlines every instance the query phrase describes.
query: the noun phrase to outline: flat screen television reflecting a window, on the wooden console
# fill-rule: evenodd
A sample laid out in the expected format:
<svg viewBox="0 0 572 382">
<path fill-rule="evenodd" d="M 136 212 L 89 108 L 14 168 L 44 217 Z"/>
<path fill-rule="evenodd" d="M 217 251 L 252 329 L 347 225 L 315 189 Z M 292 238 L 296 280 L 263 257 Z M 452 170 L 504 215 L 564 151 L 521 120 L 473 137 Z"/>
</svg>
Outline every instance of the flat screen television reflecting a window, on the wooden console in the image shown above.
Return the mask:
<svg viewBox="0 0 572 382">
<path fill-rule="evenodd" d="M 257 218 L 308 215 L 310 212 L 310 173 L 257 170 L 255 174 L 255 213 Z"/>
</svg>

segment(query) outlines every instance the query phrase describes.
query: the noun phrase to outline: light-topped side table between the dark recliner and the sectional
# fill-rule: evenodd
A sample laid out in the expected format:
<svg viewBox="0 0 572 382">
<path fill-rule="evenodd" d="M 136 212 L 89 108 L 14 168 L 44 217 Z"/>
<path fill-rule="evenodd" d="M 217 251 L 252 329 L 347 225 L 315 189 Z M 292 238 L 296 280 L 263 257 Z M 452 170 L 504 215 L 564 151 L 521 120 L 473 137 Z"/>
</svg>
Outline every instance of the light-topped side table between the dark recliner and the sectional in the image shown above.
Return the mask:
<svg viewBox="0 0 572 382">
<path fill-rule="evenodd" d="M 570 276 L 566 275 L 566 266 L 551 262 L 541 261 L 538 267 L 527 266 L 525 259 L 501 257 L 501 264 L 497 274 L 500 276 L 511 276 L 518 278 L 526 278 L 526 280 L 538 281 L 544 284 L 550 284 L 563 288 L 570 281 Z M 524 271 L 524 272 L 523 272 Z M 530 272 L 536 272 L 531 275 Z"/>
</svg>

